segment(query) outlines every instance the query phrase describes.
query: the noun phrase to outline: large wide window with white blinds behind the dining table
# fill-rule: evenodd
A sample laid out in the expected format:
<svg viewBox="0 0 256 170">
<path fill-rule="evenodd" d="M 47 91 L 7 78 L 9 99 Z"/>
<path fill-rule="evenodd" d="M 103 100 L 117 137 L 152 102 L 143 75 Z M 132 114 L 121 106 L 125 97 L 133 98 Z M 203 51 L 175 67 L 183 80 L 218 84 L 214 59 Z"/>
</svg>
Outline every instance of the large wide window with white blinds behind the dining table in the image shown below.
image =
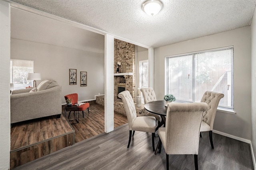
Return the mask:
<svg viewBox="0 0 256 170">
<path fill-rule="evenodd" d="M 219 106 L 234 110 L 234 48 L 225 47 L 166 57 L 166 94 L 200 102 L 205 91 L 224 94 Z"/>
</svg>

